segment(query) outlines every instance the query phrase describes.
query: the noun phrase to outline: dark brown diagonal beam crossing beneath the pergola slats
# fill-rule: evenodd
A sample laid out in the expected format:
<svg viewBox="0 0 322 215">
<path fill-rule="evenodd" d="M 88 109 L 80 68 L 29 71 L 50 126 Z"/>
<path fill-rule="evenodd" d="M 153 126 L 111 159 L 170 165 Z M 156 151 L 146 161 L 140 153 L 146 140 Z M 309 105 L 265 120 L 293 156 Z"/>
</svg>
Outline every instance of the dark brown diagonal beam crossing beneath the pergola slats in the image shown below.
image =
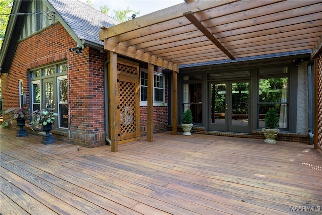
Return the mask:
<svg viewBox="0 0 322 215">
<path fill-rule="evenodd" d="M 225 53 L 230 59 L 236 58 L 208 31 L 208 29 L 193 15 L 192 11 L 183 13 L 183 15 L 198 28 L 213 44 L 215 44 L 223 53 Z"/>
</svg>

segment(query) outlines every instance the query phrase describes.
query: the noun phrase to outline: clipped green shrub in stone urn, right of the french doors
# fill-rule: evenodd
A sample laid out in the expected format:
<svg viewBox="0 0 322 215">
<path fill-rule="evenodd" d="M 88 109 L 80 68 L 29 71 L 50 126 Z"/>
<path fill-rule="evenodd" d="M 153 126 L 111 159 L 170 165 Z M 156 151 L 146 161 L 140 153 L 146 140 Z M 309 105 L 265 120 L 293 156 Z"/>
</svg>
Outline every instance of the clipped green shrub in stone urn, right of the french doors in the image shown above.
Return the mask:
<svg viewBox="0 0 322 215">
<path fill-rule="evenodd" d="M 278 126 L 279 119 L 277 117 L 277 114 L 274 108 L 271 108 L 268 110 L 264 120 L 265 120 L 265 126 L 268 127 L 268 128 L 262 128 L 262 131 L 266 138 L 264 142 L 266 142 L 267 144 L 276 144 L 275 138 L 277 134 L 280 132 L 280 130 L 276 128 Z"/>
</svg>

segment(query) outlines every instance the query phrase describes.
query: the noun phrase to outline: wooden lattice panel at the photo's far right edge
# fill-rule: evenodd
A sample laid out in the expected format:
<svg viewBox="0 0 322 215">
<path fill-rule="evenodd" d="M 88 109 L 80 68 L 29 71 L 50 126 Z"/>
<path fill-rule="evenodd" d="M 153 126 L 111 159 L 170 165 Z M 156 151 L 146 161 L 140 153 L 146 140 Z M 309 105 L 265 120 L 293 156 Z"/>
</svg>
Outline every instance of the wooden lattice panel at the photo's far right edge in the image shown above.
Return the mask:
<svg viewBox="0 0 322 215">
<path fill-rule="evenodd" d="M 316 86 L 316 95 L 317 95 L 317 99 L 316 99 L 316 108 L 317 108 L 317 129 L 315 131 L 315 135 L 316 135 L 316 139 L 315 139 L 315 143 L 317 145 L 317 147 L 319 147 L 322 150 L 322 52 L 320 52 L 316 59 L 316 67 L 317 69 L 317 75 L 316 75 L 316 82 L 317 86 Z"/>
</svg>

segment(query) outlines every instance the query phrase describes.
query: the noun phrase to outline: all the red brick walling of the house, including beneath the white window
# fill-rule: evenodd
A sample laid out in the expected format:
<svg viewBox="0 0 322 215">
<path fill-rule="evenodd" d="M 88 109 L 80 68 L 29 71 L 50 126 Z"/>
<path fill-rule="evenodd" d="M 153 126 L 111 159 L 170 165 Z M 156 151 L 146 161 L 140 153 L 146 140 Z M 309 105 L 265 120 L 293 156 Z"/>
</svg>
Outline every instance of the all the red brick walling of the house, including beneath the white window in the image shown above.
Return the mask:
<svg viewBox="0 0 322 215">
<path fill-rule="evenodd" d="M 89 47 L 82 50 L 82 55 L 68 51 L 76 45 L 60 24 L 19 42 L 9 74 L 1 76 L 3 110 L 19 106 L 19 79 L 23 79 L 28 104 L 25 107 L 29 108 L 29 69 L 66 60 L 69 78 L 70 130 L 59 129 L 53 130 L 52 133 L 60 141 L 96 147 L 105 144 L 104 63 L 107 60 L 106 53 Z M 160 72 L 159 68 L 155 70 Z M 146 107 L 140 109 L 141 135 L 144 136 L 147 131 L 147 109 Z M 154 107 L 154 132 L 166 130 L 167 114 L 167 106 Z M 11 126 L 11 129 L 16 129 L 16 126 Z M 32 133 L 30 130 L 28 132 Z M 37 134 L 37 132 L 34 133 Z"/>
</svg>

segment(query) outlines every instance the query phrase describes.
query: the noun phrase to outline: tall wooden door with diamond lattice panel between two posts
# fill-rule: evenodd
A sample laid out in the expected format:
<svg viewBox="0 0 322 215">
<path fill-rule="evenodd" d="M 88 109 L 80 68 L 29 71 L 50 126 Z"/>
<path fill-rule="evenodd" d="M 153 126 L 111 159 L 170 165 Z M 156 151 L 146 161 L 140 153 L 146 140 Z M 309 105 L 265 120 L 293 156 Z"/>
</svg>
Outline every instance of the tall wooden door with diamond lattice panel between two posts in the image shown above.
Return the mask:
<svg viewBox="0 0 322 215">
<path fill-rule="evenodd" d="M 118 142 L 139 139 L 140 137 L 140 85 L 139 64 L 124 59 L 117 59 L 117 88 L 119 125 Z"/>
</svg>

